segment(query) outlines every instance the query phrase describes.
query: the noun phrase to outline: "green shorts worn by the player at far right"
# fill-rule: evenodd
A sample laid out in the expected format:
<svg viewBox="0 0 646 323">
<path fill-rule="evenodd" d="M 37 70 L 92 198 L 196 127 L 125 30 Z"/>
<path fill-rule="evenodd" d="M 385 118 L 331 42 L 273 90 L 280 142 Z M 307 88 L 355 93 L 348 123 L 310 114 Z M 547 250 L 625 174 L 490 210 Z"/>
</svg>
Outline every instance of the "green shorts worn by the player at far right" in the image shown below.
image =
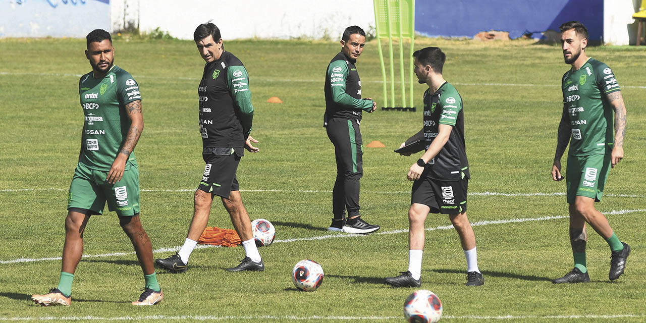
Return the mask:
<svg viewBox="0 0 646 323">
<path fill-rule="evenodd" d="M 609 172 L 610 154 L 568 156 L 565 171 L 567 202 L 574 203 L 576 196 L 587 196 L 599 202 Z"/>
</svg>

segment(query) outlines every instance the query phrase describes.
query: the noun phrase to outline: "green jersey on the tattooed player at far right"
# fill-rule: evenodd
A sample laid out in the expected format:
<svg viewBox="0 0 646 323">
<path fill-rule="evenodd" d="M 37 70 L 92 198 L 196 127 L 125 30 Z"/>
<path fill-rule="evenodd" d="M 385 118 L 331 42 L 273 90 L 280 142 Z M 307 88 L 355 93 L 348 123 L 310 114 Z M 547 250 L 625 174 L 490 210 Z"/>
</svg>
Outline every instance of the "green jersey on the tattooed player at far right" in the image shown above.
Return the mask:
<svg viewBox="0 0 646 323">
<path fill-rule="evenodd" d="M 614 109 L 607 95 L 620 90 L 608 65 L 588 59 L 563 75 L 563 103 L 570 117 L 570 156 L 605 154 L 614 145 Z"/>
</svg>

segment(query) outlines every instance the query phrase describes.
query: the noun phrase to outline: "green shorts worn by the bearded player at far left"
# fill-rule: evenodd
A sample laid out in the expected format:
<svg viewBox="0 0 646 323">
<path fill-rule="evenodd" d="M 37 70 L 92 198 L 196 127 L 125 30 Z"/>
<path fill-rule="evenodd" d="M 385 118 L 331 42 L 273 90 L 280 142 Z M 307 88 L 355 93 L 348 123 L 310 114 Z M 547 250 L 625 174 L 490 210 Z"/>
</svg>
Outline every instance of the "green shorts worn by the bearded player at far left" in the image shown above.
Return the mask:
<svg viewBox="0 0 646 323">
<path fill-rule="evenodd" d="M 114 184 L 106 181 L 107 175 L 107 171 L 96 171 L 78 163 L 70 184 L 67 209 L 86 209 L 90 214 L 102 214 L 107 201 L 108 209 L 118 215 L 138 214 L 138 167 L 130 164 L 130 168 L 123 171 L 121 180 Z"/>
</svg>

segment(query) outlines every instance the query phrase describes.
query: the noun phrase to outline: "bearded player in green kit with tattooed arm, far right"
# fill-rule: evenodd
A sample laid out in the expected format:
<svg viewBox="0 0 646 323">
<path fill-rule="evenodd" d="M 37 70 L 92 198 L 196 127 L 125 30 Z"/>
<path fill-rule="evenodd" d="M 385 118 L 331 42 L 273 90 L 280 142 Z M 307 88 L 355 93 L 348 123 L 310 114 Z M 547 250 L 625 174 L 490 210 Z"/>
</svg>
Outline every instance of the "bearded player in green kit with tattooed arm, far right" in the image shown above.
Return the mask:
<svg viewBox="0 0 646 323">
<path fill-rule="evenodd" d="M 567 145 L 566 182 L 570 212 L 570 244 L 574 269 L 554 284 L 589 282 L 585 262 L 588 240 L 586 224 L 610 245 L 610 280 L 623 274 L 630 246 L 621 242 L 608 220 L 594 207 L 601 200 L 610 167 L 623 158 L 626 108 L 614 72 L 600 61 L 588 57 L 588 30 L 578 21 L 560 26 L 565 63 L 572 68 L 563 75 L 563 114 L 559 123 L 552 179 L 563 180 L 561 156 Z M 612 134 L 614 114 L 614 137 Z M 571 138 L 571 139 L 570 139 Z"/>
</svg>

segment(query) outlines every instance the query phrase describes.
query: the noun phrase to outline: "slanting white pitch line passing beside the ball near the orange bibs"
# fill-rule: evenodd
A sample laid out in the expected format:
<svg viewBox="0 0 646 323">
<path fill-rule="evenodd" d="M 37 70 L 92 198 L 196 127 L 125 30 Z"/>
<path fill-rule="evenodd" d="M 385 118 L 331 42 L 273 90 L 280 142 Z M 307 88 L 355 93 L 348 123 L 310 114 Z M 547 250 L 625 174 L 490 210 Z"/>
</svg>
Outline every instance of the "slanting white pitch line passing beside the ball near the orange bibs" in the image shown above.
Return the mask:
<svg viewBox="0 0 646 323">
<path fill-rule="evenodd" d="M 635 212 L 644 212 L 646 209 L 635 209 L 635 210 L 613 210 L 609 212 L 605 212 L 603 214 L 627 214 L 627 213 L 635 213 Z M 486 221 L 477 221 L 477 222 L 472 222 L 472 226 L 477 227 L 477 226 L 482 226 L 482 225 L 492 225 L 492 224 L 510 224 L 510 223 L 522 223 L 522 222 L 535 222 L 535 221 L 545 221 L 545 220 L 556 220 L 556 219 L 562 219 L 562 218 L 567 218 L 568 216 L 566 215 L 557 215 L 557 216 L 542 216 L 540 218 L 513 218 L 513 219 L 506 219 L 506 220 L 486 220 Z M 453 225 L 441 225 L 439 227 L 428 227 L 426 228 L 426 231 L 436 231 L 436 230 L 448 230 L 452 229 Z M 391 231 L 382 231 L 379 233 L 373 233 L 373 234 L 396 234 L 396 233 L 406 233 L 408 232 L 407 229 L 399 229 L 399 230 L 391 230 Z M 332 239 L 332 238 L 349 238 L 349 237 L 354 237 L 354 236 L 366 236 L 364 234 L 342 234 L 342 233 L 335 233 L 335 234 L 326 234 L 323 236 L 310 236 L 307 238 L 289 238 L 289 239 L 284 239 L 284 240 L 276 240 L 274 243 L 279 244 L 279 243 L 289 243 L 289 242 L 297 242 L 297 241 L 314 241 L 314 240 L 326 240 L 326 239 Z M 197 249 L 205 249 L 205 248 L 217 248 L 220 247 L 220 245 L 197 245 Z M 179 251 L 181 248 L 180 245 L 175 246 L 175 247 L 163 247 L 160 249 L 155 249 L 152 251 L 153 253 L 165 253 L 169 251 Z M 125 256 L 125 255 L 134 255 L 134 252 L 129 252 L 129 253 L 104 253 L 101 255 L 83 255 L 83 258 L 99 258 L 99 257 L 109 257 L 109 256 Z M 48 258 L 17 258 L 14 260 L 0 260 L 0 264 L 16 264 L 19 262 L 41 262 L 41 261 L 47 261 L 47 260 L 61 260 L 61 257 L 48 257 Z"/>
</svg>

